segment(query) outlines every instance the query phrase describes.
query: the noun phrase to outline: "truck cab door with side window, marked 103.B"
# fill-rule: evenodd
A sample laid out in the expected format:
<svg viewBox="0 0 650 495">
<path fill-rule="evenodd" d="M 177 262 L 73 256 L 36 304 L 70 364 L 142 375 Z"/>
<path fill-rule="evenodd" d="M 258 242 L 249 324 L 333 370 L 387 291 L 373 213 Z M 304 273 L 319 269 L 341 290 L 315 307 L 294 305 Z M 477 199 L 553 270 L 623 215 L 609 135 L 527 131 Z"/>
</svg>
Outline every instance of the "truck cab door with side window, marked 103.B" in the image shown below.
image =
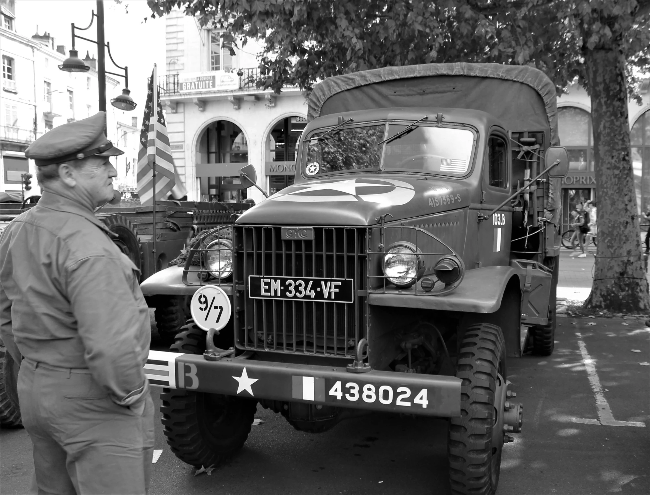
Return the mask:
<svg viewBox="0 0 650 495">
<path fill-rule="evenodd" d="M 482 176 L 482 213 L 499 206 L 510 196 L 512 181 L 510 147 L 506 133 L 493 129 L 487 139 Z M 480 266 L 508 265 L 512 207 L 502 207 L 478 224 L 478 261 Z"/>
</svg>

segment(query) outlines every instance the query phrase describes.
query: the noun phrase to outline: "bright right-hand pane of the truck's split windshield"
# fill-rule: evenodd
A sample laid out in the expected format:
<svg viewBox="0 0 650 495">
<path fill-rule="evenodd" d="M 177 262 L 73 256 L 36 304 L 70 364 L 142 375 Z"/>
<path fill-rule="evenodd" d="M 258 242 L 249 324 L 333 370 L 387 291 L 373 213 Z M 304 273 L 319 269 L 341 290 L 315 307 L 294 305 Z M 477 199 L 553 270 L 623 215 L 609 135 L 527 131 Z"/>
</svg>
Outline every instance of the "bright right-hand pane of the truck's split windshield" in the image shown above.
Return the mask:
<svg viewBox="0 0 650 495">
<path fill-rule="evenodd" d="M 406 126 L 389 124 L 388 136 Z M 463 176 L 469 169 L 474 134 L 469 129 L 418 126 L 387 142 L 382 169 Z"/>
</svg>

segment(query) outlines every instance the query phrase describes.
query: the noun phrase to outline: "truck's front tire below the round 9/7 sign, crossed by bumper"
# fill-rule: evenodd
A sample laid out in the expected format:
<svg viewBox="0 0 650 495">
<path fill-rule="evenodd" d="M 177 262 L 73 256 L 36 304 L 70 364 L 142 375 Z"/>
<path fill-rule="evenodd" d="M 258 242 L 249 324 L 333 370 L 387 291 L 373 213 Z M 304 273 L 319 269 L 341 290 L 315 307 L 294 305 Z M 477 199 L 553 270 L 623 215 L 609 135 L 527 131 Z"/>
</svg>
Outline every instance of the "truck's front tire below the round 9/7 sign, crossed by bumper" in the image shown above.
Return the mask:
<svg viewBox="0 0 650 495">
<path fill-rule="evenodd" d="M 202 354 L 205 332 L 190 323 L 177 334 L 170 351 Z M 195 467 L 218 466 L 246 442 L 257 401 L 229 395 L 164 388 L 162 425 L 172 452 Z"/>
</svg>

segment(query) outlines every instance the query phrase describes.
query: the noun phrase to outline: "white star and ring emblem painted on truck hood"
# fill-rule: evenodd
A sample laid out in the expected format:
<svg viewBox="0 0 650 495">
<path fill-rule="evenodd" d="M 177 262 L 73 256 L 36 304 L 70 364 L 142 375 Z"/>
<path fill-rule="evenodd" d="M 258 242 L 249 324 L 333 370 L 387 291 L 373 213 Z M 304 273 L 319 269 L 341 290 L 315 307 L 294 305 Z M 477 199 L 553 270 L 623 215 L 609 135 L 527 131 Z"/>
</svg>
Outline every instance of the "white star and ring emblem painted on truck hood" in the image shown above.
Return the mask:
<svg viewBox="0 0 650 495">
<path fill-rule="evenodd" d="M 268 199 L 298 203 L 359 201 L 398 206 L 408 203 L 413 196 L 415 196 L 413 186 L 404 181 L 348 179 L 294 185 L 286 193 L 280 191 Z"/>
</svg>

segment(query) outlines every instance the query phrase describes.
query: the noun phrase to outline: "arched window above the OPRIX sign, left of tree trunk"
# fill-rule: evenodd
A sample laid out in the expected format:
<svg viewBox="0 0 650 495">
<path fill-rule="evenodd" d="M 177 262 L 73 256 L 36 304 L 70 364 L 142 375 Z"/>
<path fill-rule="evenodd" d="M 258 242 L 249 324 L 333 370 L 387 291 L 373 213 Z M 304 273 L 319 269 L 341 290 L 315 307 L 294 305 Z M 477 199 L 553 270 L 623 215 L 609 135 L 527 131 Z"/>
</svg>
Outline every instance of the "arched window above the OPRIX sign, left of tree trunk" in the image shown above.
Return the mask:
<svg viewBox="0 0 650 495">
<path fill-rule="evenodd" d="M 591 115 L 576 107 L 558 108 L 558 133 L 569 152 L 569 170 L 593 172 Z"/>
</svg>

